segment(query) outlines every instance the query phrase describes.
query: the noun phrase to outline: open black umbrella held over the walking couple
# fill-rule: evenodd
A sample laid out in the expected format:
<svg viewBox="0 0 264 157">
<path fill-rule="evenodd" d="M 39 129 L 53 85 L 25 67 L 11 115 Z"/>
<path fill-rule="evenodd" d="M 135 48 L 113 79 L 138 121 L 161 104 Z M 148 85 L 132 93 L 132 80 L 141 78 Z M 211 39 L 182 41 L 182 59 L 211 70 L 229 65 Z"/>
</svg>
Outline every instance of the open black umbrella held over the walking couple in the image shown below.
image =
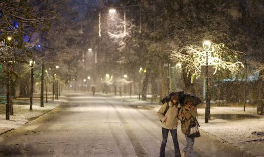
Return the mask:
<svg viewBox="0 0 264 157">
<path fill-rule="evenodd" d="M 193 100 L 193 105 L 196 106 L 198 104 L 200 104 L 202 102 L 202 100 L 197 97 L 195 94 L 193 93 L 188 93 L 185 91 L 181 91 L 181 92 L 171 92 L 169 95 L 167 95 L 166 97 L 164 97 L 161 102 L 164 104 L 165 102 L 169 102 L 171 100 L 172 96 L 177 95 L 179 97 L 179 101 L 181 106 L 184 106 L 184 100 L 185 99 L 191 99 Z"/>
</svg>

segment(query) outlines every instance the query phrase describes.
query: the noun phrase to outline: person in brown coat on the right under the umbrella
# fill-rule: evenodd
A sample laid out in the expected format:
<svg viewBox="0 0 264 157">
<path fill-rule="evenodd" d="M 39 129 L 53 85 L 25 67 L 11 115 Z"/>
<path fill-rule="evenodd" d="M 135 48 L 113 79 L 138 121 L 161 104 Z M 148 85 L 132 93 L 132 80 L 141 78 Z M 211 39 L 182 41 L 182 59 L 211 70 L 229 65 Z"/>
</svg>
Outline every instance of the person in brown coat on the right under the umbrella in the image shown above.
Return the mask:
<svg viewBox="0 0 264 157">
<path fill-rule="evenodd" d="M 181 119 L 182 132 L 185 134 L 187 145 L 183 149 L 185 157 L 196 157 L 196 153 L 193 150 L 193 144 L 195 137 L 190 135 L 190 124 L 194 122 L 199 125 L 197 120 L 197 109 L 193 106 L 193 101 L 191 99 L 186 99 L 184 101 L 184 106 L 180 110 L 179 119 Z"/>
</svg>

